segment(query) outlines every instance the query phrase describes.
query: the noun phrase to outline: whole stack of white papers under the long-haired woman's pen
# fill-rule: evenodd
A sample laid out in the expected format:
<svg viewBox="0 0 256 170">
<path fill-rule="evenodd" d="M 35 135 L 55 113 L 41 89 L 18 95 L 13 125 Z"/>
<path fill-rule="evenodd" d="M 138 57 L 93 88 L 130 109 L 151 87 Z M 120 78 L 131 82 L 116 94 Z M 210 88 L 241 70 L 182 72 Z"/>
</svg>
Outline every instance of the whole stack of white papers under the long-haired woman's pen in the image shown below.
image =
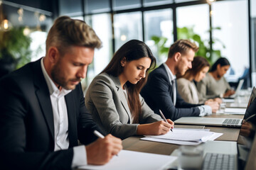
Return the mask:
<svg viewBox="0 0 256 170">
<path fill-rule="evenodd" d="M 209 132 L 206 130 L 191 130 L 175 128 L 173 132 L 165 135 L 146 135 L 141 140 L 150 140 L 154 142 L 164 142 L 176 145 L 198 145 L 201 142 L 215 140 L 223 133 Z"/>
</svg>

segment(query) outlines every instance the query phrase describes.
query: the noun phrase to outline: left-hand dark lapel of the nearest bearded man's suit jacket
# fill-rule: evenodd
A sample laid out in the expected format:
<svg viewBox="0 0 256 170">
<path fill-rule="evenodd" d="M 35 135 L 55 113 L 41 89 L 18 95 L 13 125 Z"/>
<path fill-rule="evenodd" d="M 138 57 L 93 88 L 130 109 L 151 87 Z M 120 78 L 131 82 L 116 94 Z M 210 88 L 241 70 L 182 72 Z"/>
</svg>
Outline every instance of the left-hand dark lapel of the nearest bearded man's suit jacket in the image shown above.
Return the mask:
<svg viewBox="0 0 256 170">
<path fill-rule="evenodd" d="M 33 64 L 33 72 L 33 81 L 34 85 L 36 86 L 36 96 L 41 106 L 41 111 L 38 111 L 38 113 L 43 112 L 44 118 L 46 119 L 46 123 L 50 131 L 50 135 L 53 137 L 54 141 L 53 108 L 50 102 L 49 89 L 41 69 L 41 59 Z"/>
</svg>

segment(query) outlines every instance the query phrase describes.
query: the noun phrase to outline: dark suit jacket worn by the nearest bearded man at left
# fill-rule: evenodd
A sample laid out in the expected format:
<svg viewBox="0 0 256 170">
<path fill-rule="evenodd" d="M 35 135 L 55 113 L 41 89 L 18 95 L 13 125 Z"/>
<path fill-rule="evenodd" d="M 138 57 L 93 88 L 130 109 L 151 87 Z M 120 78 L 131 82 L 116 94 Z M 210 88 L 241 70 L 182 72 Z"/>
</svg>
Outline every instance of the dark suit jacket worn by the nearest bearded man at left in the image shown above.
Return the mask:
<svg viewBox="0 0 256 170">
<path fill-rule="evenodd" d="M 70 146 L 53 152 L 53 110 L 40 60 L 0 80 L 0 169 L 71 169 L 72 147 L 96 140 L 93 130 L 100 129 L 85 108 L 81 84 L 65 101 Z"/>
</svg>

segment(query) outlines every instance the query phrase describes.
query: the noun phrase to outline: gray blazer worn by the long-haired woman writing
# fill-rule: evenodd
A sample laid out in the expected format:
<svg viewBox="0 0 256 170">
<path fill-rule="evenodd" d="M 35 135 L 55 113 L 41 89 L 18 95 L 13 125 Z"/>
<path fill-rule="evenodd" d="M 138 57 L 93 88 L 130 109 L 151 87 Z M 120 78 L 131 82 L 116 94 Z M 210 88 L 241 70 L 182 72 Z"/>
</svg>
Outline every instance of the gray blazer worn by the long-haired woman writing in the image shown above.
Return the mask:
<svg viewBox="0 0 256 170">
<path fill-rule="evenodd" d="M 142 114 L 139 123 L 153 123 L 161 117 L 147 106 L 139 95 Z M 118 77 L 102 73 L 93 79 L 85 95 L 85 105 L 92 118 L 107 133 L 121 139 L 137 134 L 139 124 L 131 123 L 131 113 Z"/>
</svg>

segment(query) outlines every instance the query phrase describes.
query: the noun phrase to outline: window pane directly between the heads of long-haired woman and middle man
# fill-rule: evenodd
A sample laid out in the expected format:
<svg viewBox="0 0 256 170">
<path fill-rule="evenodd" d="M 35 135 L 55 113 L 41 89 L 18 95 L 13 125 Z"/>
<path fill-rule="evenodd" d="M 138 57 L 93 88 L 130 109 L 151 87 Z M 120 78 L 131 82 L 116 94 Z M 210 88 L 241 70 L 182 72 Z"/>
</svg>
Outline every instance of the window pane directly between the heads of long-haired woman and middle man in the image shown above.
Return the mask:
<svg viewBox="0 0 256 170">
<path fill-rule="evenodd" d="M 156 57 L 158 65 L 166 61 L 169 47 L 174 42 L 173 26 L 170 8 L 144 12 L 145 42 Z M 166 41 L 164 46 L 161 45 L 163 41 L 158 41 L 160 39 Z"/>
</svg>

